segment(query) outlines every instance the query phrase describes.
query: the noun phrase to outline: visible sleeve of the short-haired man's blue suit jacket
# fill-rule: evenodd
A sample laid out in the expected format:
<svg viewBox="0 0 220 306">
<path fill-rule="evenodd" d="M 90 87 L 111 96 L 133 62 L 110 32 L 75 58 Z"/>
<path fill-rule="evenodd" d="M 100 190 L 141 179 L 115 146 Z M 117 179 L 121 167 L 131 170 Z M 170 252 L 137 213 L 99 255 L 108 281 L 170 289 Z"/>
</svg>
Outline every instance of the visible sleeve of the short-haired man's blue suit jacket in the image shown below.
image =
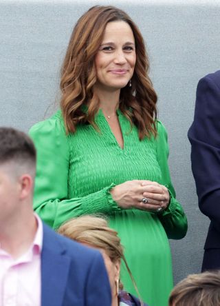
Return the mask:
<svg viewBox="0 0 220 306">
<path fill-rule="evenodd" d="M 86 286 L 87 306 L 111 306 L 109 277 L 101 254 L 92 261 Z"/>
</svg>

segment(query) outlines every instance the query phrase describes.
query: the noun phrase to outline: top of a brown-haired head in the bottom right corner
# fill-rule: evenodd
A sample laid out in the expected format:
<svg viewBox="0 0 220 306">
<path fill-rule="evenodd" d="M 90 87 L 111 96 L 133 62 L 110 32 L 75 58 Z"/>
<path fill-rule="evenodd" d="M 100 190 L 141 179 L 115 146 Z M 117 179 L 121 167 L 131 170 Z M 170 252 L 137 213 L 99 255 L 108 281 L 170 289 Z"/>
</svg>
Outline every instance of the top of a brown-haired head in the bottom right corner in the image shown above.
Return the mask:
<svg viewBox="0 0 220 306">
<path fill-rule="evenodd" d="M 220 305 L 220 270 L 191 274 L 170 293 L 169 306 Z"/>
</svg>

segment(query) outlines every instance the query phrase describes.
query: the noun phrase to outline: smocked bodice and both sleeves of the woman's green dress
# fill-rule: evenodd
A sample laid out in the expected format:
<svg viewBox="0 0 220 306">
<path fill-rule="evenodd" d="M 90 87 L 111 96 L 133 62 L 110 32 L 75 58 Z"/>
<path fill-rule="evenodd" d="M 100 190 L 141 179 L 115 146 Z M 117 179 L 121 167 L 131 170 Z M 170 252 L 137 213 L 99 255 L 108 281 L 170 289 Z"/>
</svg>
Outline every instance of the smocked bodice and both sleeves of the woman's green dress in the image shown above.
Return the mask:
<svg viewBox="0 0 220 306">
<path fill-rule="evenodd" d="M 37 150 L 34 210 L 54 228 L 83 214 L 111 214 L 121 210 L 109 193 L 113 185 L 131 179 L 153 179 L 168 187 L 171 196 L 168 209 L 157 214 L 159 220 L 168 238 L 182 238 L 187 221 L 170 181 L 164 125 L 157 121 L 156 139 L 139 141 L 137 129 L 131 130 L 129 121 L 120 111 L 118 114 L 123 150 L 107 127 L 101 110 L 96 117 L 100 132 L 84 125 L 78 127 L 76 134 L 67 136 L 60 111 L 31 128 L 30 136 Z M 148 152 L 143 152 L 146 146 Z M 151 177 L 146 177 L 146 168 L 153 170 Z"/>
</svg>

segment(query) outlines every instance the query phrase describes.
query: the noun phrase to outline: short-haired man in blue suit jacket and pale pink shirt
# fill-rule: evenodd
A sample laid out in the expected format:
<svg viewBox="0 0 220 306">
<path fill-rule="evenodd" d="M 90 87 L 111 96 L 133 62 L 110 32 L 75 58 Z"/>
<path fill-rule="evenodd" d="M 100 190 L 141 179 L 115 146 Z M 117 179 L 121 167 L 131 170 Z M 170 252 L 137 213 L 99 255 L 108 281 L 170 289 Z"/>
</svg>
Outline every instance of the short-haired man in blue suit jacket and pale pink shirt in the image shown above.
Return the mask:
<svg viewBox="0 0 220 306">
<path fill-rule="evenodd" d="M 35 168 L 29 136 L 0 128 L 0 306 L 110 306 L 101 254 L 34 214 Z"/>
</svg>

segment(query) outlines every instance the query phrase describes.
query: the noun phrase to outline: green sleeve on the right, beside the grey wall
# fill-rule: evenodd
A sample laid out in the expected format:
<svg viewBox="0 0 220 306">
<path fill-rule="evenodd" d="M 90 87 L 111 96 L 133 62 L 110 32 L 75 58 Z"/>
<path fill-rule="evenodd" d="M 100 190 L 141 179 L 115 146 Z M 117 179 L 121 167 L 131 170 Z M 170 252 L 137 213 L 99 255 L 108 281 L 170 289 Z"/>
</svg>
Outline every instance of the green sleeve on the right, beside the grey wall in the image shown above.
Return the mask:
<svg viewBox="0 0 220 306">
<path fill-rule="evenodd" d="M 181 239 L 186 235 L 188 224 L 183 208 L 175 198 L 175 190 L 170 180 L 168 169 L 168 143 L 164 125 L 157 123 L 157 161 L 162 172 L 162 185 L 168 188 L 170 204 L 158 214 L 168 238 Z"/>
</svg>

